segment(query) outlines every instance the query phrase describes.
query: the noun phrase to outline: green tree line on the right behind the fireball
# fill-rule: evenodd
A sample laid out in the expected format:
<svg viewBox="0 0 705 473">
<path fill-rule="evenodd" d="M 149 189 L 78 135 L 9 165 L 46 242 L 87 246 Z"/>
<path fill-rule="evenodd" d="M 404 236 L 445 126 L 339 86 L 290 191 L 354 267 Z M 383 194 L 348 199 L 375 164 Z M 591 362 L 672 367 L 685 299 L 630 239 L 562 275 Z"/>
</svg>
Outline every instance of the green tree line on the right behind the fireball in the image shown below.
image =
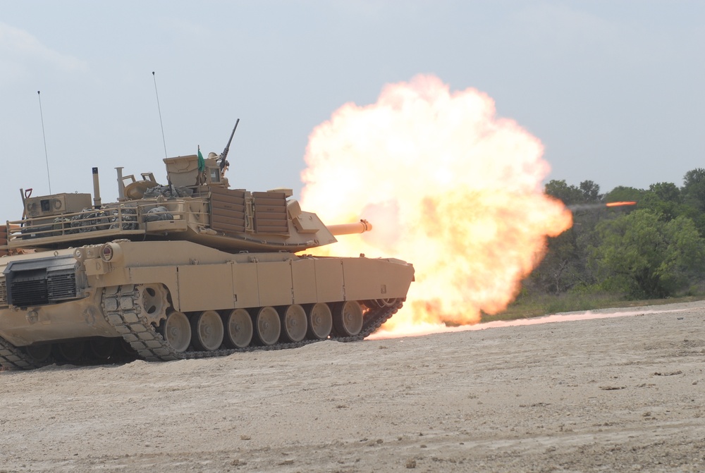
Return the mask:
<svg viewBox="0 0 705 473">
<path fill-rule="evenodd" d="M 549 238 L 541 264 L 523 282 L 525 295 L 610 293 L 650 299 L 703 293 L 705 169 L 685 173 L 682 187 L 619 186 L 606 194 L 585 180 L 551 180 L 546 194 L 573 209 L 573 226 Z M 636 201 L 635 207 L 601 207 Z"/>
</svg>

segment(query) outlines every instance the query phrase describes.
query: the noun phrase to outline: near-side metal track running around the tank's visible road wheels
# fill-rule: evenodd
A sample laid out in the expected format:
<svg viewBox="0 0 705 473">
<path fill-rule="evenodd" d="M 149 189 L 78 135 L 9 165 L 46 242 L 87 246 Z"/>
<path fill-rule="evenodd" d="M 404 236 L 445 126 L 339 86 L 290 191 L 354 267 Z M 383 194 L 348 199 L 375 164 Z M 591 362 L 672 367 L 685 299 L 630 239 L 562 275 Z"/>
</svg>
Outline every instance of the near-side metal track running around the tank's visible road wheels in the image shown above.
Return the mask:
<svg viewBox="0 0 705 473">
<path fill-rule="evenodd" d="M 386 307 L 373 307 L 364 315 L 362 330 L 356 336 L 341 337 L 331 334 L 331 340 L 353 342 L 362 340 L 374 332 L 381 324 L 392 317 L 403 305 L 403 301 Z M 185 352 L 176 352 L 157 331 L 154 325 L 147 321 L 139 302 L 139 291 L 135 285 L 121 285 L 103 290 L 103 314 L 109 324 L 121 333 L 126 342 L 147 361 L 192 360 L 195 358 L 221 357 L 238 352 L 254 350 L 284 350 L 298 348 L 321 340 L 302 340 L 295 343 L 275 343 L 274 345 L 251 345 L 246 348 L 229 348 L 212 351 L 196 351 L 191 347 Z"/>
</svg>

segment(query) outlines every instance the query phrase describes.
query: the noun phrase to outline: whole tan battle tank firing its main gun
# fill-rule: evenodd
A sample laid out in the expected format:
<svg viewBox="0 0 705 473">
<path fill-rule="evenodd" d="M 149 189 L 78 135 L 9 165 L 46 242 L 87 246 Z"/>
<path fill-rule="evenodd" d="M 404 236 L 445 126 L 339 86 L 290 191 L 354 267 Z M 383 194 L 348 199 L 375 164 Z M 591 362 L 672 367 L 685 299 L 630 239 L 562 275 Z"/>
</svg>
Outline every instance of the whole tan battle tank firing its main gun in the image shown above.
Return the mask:
<svg viewBox="0 0 705 473">
<path fill-rule="evenodd" d="M 287 189 L 230 189 L 227 152 L 164 159 L 166 185 L 117 168 L 119 197 L 108 204 L 97 168 L 93 202 L 23 195 L 23 219 L 0 233 L 0 364 L 179 360 L 361 340 L 401 307 L 411 264 L 301 254 L 369 223 L 326 226 Z"/>
</svg>

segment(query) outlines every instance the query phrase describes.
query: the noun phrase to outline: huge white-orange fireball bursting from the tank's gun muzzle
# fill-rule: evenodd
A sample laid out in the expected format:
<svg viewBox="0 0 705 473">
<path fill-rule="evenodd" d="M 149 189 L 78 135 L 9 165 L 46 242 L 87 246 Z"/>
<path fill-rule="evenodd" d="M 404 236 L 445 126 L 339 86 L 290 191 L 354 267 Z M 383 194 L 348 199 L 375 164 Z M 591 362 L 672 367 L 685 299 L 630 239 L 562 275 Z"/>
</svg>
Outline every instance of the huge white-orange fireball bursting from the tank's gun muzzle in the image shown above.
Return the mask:
<svg viewBox="0 0 705 473">
<path fill-rule="evenodd" d="M 543 193 L 543 146 L 496 116 L 482 92 L 450 92 L 433 75 L 386 85 L 376 104 L 341 106 L 309 137 L 302 207 L 329 223 L 369 220 L 317 254 L 398 257 L 414 264 L 395 333 L 474 324 L 505 309 L 570 228 Z"/>
</svg>

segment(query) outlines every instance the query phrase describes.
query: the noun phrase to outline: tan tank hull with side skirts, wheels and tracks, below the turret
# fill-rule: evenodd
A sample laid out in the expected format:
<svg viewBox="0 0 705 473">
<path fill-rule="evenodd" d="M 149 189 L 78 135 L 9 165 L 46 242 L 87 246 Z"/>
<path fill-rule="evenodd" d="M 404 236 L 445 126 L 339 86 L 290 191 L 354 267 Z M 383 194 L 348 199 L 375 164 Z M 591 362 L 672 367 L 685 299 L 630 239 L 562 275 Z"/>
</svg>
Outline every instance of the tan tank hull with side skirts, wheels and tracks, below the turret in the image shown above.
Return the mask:
<svg viewBox="0 0 705 473">
<path fill-rule="evenodd" d="M 20 368 L 62 361 L 42 345 L 77 340 L 123 339 L 147 360 L 174 360 L 360 339 L 414 277 L 398 259 L 128 240 L 3 257 L 0 271 L 0 363 Z M 95 362 L 87 351 L 63 361 Z"/>
</svg>

